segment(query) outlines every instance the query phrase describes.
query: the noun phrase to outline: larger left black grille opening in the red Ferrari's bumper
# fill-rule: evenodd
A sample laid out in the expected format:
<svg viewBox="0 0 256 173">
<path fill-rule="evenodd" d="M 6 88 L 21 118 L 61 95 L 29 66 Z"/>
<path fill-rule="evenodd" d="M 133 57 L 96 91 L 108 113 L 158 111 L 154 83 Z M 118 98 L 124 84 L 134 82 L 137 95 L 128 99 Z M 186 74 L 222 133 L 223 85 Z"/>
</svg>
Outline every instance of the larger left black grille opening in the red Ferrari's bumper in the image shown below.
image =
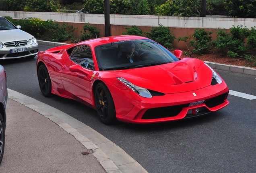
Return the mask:
<svg viewBox="0 0 256 173">
<path fill-rule="evenodd" d="M 188 107 L 188 104 L 149 109 L 145 112 L 141 119 L 160 119 L 175 117 L 182 111 L 182 108 L 184 107 Z"/>
</svg>

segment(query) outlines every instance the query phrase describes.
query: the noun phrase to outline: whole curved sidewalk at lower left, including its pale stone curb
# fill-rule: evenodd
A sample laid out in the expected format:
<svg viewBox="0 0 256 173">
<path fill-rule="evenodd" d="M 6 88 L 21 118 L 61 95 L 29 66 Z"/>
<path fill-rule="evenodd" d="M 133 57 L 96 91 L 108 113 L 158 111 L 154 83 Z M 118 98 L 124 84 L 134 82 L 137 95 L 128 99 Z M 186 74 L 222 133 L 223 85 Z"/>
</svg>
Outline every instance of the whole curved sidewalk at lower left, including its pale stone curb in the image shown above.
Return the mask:
<svg viewBox="0 0 256 173">
<path fill-rule="evenodd" d="M 91 127 L 8 89 L 1 173 L 147 173 Z"/>
</svg>

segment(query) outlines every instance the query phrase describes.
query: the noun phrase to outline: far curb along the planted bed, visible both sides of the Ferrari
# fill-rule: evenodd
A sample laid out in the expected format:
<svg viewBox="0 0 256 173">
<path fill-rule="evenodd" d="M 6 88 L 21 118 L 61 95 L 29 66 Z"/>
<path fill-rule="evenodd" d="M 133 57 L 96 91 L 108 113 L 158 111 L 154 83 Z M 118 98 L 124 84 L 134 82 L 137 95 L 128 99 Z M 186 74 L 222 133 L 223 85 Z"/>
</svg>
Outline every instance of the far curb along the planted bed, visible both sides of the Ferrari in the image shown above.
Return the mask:
<svg viewBox="0 0 256 173">
<path fill-rule="evenodd" d="M 38 42 L 38 44 L 47 45 L 47 46 L 67 45 L 66 43 L 50 42 L 50 41 L 43 41 L 43 40 L 37 40 L 37 42 Z M 237 73 L 242 73 L 242 74 L 256 75 L 256 69 L 255 68 L 219 64 L 219 63 L 216 63 L 216 62 L 209 62 L 209 61 L 205 61 L 205 62 L 207 64 L 209 64 L 212 68 L 217 69 L 217 70 L 225 70 L 225 71 L 237 72 Z"/>
</svg>

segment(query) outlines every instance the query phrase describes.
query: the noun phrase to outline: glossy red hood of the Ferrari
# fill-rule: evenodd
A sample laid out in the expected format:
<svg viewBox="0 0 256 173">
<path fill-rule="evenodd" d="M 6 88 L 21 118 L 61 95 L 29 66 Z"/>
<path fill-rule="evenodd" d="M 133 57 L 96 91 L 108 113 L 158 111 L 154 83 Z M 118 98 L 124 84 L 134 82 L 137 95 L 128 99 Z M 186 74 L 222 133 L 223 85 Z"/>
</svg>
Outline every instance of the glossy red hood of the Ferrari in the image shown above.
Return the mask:
<svg viewBox="0 0 256 173">
<path fill-rule="evenodd" d="M 194 91 L 211 85 L 212 71 L 203 61 L 183 58 L 177 62 L 115 72 L 133 84 L 161 93 Z"/>
</svg>

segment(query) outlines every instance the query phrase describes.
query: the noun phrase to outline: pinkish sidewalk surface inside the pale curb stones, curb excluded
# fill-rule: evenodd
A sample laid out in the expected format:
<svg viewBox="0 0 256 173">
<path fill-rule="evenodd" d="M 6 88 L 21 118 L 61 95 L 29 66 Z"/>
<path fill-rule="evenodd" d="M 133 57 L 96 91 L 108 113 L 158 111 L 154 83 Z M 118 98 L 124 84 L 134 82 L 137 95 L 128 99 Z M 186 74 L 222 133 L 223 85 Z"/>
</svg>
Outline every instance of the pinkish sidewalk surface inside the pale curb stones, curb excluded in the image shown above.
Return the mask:
<svg viewBox="0 0 256 173">
<path fill-rule="evenodd" d="M 1 173 L 105 173 L 74 136 L 32 109 L 8 100 Z"/>
</svg>

